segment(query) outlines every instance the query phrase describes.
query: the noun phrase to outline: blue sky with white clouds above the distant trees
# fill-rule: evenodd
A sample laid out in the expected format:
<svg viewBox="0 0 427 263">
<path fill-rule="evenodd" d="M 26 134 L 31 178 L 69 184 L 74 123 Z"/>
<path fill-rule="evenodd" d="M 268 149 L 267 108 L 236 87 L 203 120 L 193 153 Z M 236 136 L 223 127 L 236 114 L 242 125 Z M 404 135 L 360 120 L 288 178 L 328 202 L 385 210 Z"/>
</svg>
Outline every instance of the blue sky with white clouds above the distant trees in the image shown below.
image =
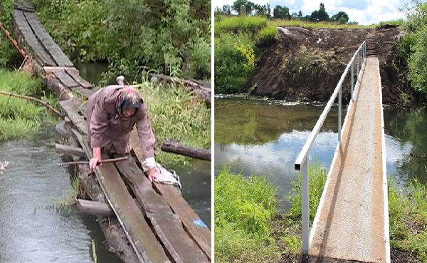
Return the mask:
<svg viewBox="0 0 427 263">
<path fill-rule="evenodd" d="M 249 0 L 251 1 L 251 0 Z M 212 0 L 214 8 L 223 5 L 233 5 L 233 0 Z M 399 11 L 404 4 L 411 4 L 411 0 L 252 0 L 255 4 L 270 4 L 273 11 L 275 6 L 286 6 L 289 13 L 302 11 L 302 16 L 310 16 L 313 11 L 319 10 L 320 3 L 325 5 L 327 14 L 331 17 L 339 11 L 349 16 L 349 21 L 359 25 L 378 24 L 381 21 L 405 19 L 406 14 Z"/>
</svg>

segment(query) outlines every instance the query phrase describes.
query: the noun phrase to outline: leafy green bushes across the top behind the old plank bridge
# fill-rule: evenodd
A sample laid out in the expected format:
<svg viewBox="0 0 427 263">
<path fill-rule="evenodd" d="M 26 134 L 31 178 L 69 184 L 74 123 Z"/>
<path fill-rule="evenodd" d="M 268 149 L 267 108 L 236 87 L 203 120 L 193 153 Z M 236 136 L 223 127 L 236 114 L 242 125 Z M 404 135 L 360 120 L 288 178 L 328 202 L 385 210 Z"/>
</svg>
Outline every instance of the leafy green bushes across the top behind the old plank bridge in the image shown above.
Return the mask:
<svg viewBox="0 0 427 263">
<path fill-rule="evenodd" d="M 111 69 L 152 68 L 209 79 L 209 0 L 34 0 L 39 17 L 68 56 L 109 61 Z"/>
</svg>

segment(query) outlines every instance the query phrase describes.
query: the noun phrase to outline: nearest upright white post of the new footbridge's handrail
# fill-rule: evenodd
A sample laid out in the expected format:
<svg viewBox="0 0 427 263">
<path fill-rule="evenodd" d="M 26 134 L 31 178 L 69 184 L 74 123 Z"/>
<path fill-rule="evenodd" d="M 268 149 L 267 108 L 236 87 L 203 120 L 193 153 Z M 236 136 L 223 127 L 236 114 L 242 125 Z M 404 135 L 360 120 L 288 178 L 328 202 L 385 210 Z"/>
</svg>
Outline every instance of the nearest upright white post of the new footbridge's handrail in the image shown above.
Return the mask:
<svg viewBox="0 0 427 263">
<path fill-rule="evenodd" d="M 308 254 L 310 250 L 310 209 L 308 193 L 310 186 L 308 182 L 308 156 L 301 164 L 301 206 L 302 206 L 302 254 Z"/>
</svg>

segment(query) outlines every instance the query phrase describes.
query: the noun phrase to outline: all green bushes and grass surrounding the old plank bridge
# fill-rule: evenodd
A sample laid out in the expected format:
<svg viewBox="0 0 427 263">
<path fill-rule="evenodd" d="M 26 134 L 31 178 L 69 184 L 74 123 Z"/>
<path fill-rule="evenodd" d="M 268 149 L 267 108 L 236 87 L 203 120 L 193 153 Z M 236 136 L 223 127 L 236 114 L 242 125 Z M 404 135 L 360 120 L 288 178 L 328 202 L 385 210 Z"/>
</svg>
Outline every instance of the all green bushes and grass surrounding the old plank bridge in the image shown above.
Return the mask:
<svg viewBox="0 0 427 263">
<path fill-rule="evenodd" d="M 73 61 L 108 61 L 110 71 L 105 73 L 105 84 L 110 83 L 110 76 L 114 79 L 119 74 L 131 76 L 132 84 L 139 87 L 149 103 L 157 148 L 162 140 L 171 138 L 186 145 L 209 148 L 210 108 L 183 86 L 150 83 L 142 68 L 209 80 L 210 1 L 162 3 L 33 1 L 43 26 Z M 13 32 L 13 1 L 1 4 L 6 12 L 0 12 L 0 21 Z M 9 41 L 0 42 L 0 90 L 43 98 L 58 108 L 56 98 L 40 80 L 23 71 L 11 70 L 19 67 L 21 59 Z M 48 116 L 44 108 L 19 98 L 0 96 L 0 105 L 0 140 L 27 138 L 37 132 Z M 57 121 L 52 116 L 49 118 L 52 123 Z M 159 153 L 158 160 L 164 165 L 188 165 L 190 159 Z"/>
</svg>

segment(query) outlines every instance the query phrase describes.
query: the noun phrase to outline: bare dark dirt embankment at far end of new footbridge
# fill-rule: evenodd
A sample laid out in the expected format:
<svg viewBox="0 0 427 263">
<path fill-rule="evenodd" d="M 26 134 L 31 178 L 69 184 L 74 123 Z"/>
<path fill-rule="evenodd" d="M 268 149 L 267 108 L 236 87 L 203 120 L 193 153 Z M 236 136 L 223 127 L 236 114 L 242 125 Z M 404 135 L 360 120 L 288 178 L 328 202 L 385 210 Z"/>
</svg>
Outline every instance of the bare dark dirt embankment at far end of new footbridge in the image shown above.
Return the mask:
<svg viewBox="0 0 427 263">
<path fill-rule="evenodd" d="M 383 103 L 407 103 L 413 96 L 413 89 L 404 75 L 406 61 L 397 53 L 399 38 L 404 35 L 399 27 L 311 29 L 283 26 L 279 34 L 276 43 L 260 47 L 263 56 L 243 92 L 288 101 L 325 102 L 354 52 L 367 41 L 367 55 L 379 58 Z M 344 81 L 343 94 L 348 94 L 349 82 Z"/>
</svg>

